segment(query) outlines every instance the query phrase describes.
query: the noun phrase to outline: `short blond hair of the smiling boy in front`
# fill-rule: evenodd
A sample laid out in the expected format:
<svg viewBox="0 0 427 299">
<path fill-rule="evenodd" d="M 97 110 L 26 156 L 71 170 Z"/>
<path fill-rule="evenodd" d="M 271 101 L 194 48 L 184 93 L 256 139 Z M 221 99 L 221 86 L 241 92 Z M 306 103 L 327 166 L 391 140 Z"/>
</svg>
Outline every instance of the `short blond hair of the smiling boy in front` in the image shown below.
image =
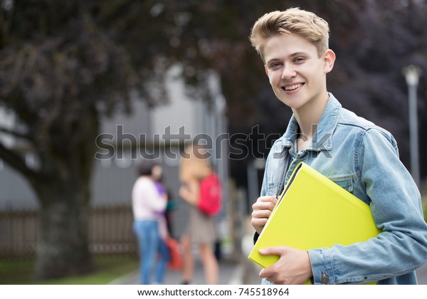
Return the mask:
<svg viewBox="0 0 427 299">
<path fill-rule="evenodd" d="M 316 47 L 317 55 L 321 57 L 329 48 L 329 31 L 327 21 L 320 16 L 310 11 L 291 8 L 261 16 L 253 25 L 249 39 L 263 58 L 263 46 L 269 38 L 281 34 L 296 34 L 310 41 Z"/>
</svg>

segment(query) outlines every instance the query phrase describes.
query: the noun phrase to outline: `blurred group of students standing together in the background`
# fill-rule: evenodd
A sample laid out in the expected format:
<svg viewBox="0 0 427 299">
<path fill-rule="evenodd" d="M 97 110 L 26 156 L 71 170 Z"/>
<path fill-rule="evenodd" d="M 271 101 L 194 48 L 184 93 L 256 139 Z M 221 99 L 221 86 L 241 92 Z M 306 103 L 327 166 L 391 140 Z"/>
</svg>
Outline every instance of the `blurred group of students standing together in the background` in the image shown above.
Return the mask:
<svg viewBox="0 0 427 299">
<path fill-rule="evenodd" d="M 141 284 L 151 284 L 152 276 L 155 284 L 164 283 L 167 268 L 182 268 L 181 283 L 191 283 L 194 247 L 199 251 L 206 283 L 218 284 L 218 256 L 213 244 L 217 240 L 214 217 L 222 203 L 221 182 L 202 147 L 188 145 L 184 154 L 187 157 L 180 165 L 179 195 L 189 204 L 190 211 L 179 243 L 172 238 L 169 211 L 173 204 L 162 184 L 162 167 L 149 160 L 139 165 L 139 177 L 132 189 L 132 211 L 141 259 Z"/>
</svg>

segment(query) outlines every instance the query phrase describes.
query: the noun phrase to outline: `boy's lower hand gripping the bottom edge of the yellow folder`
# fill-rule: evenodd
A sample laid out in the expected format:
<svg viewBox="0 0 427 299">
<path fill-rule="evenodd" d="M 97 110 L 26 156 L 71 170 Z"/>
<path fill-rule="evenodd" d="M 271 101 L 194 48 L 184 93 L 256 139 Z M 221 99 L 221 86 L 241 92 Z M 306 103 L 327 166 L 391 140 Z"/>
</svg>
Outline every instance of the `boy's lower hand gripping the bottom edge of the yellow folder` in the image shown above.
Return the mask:
<svg viewBox="0 0 427 299">
<path fill-rule="evenodd" d="M 279 261 L 260 271 L 260 278 L 280 285 L 300 285 L 313 276 L 307 251 L 278 246 L 260 249 L 260 253 L 280 256 Z"/>
</svg>

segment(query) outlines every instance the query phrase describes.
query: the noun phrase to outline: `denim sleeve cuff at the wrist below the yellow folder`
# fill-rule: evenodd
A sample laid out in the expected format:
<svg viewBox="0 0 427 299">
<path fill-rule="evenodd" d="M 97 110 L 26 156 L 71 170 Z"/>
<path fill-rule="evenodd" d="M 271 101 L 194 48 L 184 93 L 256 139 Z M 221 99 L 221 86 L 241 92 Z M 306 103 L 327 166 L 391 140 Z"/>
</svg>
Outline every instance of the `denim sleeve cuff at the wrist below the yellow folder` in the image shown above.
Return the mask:
<svg viewBox="0 0 427 299">
<path fill-rule="evenodd" d="M 332 254 L 329 248 L 308 250 L 312 266 L 312 283 L 315 285 L 336 284 Z"/>
</svg>

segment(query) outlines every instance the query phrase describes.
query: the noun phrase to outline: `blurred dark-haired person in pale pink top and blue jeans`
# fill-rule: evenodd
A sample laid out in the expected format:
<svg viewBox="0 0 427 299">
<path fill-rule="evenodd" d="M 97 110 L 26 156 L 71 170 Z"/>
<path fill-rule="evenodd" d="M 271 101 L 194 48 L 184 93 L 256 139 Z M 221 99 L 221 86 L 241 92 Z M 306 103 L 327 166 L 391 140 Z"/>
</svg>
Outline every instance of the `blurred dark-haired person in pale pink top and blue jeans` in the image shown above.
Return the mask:
<svg viewBox="0 0 427 299">
<path fill-rule="evenodd" d="M 163 283 L 169 251 L 164 244 L 164 210 L 167 198 L 159 193 L 156 182 L 162 175 L 162 167 L 152 161 L 144 161 L 138 167 L 139 177 L 132 188 L 134 231 L 137 235 L 141 284 L 151 283 L 151 273 L 156 266 L 157 284 Z M 157 262 L 157 253 L 160 253 Z"/>
</svg>

